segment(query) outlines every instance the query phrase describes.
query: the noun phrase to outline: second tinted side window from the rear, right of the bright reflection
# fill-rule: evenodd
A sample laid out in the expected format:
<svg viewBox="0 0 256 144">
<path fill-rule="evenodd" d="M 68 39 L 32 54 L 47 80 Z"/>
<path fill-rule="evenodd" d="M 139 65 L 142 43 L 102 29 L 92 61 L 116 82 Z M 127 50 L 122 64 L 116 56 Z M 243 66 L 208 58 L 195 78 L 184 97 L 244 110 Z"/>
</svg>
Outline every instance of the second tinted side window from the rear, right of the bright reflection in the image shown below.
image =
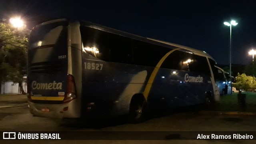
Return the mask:
<svg viewBox="0 0 256 144">
<path fill-rule="evenodd" d="M 132 64 L 132 39 L 108 34 L 110 61 Z"/>
</svg>

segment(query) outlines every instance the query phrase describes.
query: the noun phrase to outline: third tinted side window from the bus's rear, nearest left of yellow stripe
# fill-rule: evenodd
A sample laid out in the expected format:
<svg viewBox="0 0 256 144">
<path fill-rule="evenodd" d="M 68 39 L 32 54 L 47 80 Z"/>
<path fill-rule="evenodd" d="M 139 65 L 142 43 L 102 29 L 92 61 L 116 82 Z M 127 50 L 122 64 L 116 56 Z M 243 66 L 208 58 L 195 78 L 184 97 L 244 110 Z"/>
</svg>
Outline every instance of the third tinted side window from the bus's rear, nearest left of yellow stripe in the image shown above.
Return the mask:
<svg viewBox="0 0 256 144">
<path fill-rule="evenodd" d="M 143 66 L 156 66 L 154 58 L 154 44 L 142 42 L 140 40 L 133 40 L 132 47 L 134 64 Z"/>
</svg>

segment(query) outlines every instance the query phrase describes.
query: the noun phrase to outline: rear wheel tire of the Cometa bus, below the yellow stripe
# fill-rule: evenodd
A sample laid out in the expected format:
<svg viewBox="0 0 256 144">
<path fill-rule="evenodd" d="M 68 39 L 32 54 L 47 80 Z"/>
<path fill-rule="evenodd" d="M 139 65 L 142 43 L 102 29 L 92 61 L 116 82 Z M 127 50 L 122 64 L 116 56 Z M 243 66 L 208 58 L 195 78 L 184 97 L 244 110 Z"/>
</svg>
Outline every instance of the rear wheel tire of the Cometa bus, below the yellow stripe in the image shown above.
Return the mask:
<svg viewBox="0 0 256 144">
<path fill-rule="evenodd" d="M 134 96 L 130 102 L 129 121 L 138 124 L 145 121 L 146 100 L 144 96 Z"/>
</svg>

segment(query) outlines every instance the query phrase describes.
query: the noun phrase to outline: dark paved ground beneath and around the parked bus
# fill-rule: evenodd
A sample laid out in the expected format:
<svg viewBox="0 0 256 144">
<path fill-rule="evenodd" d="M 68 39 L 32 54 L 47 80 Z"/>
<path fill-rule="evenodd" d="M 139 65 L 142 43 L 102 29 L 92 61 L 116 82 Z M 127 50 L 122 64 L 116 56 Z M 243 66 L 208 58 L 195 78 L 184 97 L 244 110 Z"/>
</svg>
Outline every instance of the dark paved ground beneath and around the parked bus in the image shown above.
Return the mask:
<svg viewBox="0 0 256 144">
<path fill-rule="evenodd" d="M 251 96 L 246 97 L 247 100 Z M 233 97 L 232 97 L 233 96 Z M 94 125 L 58 119 L 34 117 L 26 104 L 26 96 L 0 97 L 0 131 L 60 133 L 62 140 L 39 140 L 38 143 L 254 143 L 255 140 L 204 140 L 203 135 L 252 135 L 256 138 L 256 113 L 252 100 L 239 106 L 235 95 L 221 97 L 221 102 L 200 111 L 173 112 L 155 116 L 140 124 L 125 120 L 102 121 Z M 236 98 L 235 98 L 236 97 Z M 235 100 L 230 102 L 230 100 Z M 224 105 L 223 105 L 224 104 Z M 249 107 L 250 106 L 250 107 Z M 252 106 L 252 107 L 251 107 Z M 226 108 L 226 109 L 224 109 Z M 64 132 L 64 134 L 63 134 Z M 67 133 L 65 133 L 67 132 Z M 69 134 L 69 135 L 68 135 Z M 200 137 L 198 137 L 200 134 Z M 203 136 L 202 136 L 203 138 Z M 63 141 L 65 140 L 65 141 Z M 2 141 L 2 140 L 1 140 Z M 31 140 L 3 140 L 4 143 L 32 143 Z M 33 142 L 34 143 L 34 142 Z"/>
</svg>

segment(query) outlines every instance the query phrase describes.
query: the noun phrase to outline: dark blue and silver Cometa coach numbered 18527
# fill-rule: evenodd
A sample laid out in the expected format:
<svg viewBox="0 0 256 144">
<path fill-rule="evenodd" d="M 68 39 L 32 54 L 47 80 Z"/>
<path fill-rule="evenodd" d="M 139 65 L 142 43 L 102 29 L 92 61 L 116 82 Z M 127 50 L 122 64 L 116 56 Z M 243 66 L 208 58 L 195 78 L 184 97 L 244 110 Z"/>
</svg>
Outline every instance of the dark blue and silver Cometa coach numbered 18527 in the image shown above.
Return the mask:
<svg viewBox="0 0 256 144">
<path fill-rule="evenodd" d="M 155 110 L 219 100 L 206 52 L 85 21 L 31 30 L 28 106 L 34 116 L 140 122 Z"/>
</svg>

